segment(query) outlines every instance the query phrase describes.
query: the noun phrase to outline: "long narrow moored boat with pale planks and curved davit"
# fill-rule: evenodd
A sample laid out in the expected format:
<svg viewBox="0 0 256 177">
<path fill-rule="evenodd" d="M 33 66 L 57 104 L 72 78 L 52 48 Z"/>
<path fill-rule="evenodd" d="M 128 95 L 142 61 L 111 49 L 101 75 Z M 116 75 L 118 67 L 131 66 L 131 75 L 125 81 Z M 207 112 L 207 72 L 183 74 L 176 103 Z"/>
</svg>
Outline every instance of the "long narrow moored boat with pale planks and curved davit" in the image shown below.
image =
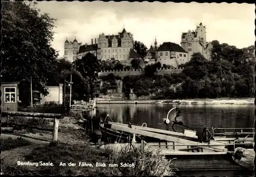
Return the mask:
<svg viewBox="0 0 256 177">
<path fill-rule="evenodd" d="M 176 109 L 177 115 L 175 117 L 175 121 L 173 121 L 173 130 L 174 131 L 169 131 L 168 130 L 168 123 L 169 123 L 169 113 L 172 112 L 173 110 Z M 142 125 L 137 125 L 134 123 L 130 123 L 130 122 L 114 122 L 111 118 L 111 116 L 108 114 L 106 115 L 104 121 L 100 121 L 99 123 L 99 130 L 101 131 L 102 134 L 102 139 L 103 141 L 109 142 L 109 143 L 113 143 L 113 142 L 122 142 L 122 143 L 127 143 L 129 141 L 133 141 L 133 142 L 140 142 L 141 141 L 141 136 L 137 135 L 137 134 L 129 134 L 123 131 L 118 131 L 115 129 L 110 128 L 111 125 L 116 124 L 116 125 L 121 125 L 123 127 L 133 127 L 134 129 L 137 130 L 144 130 L 144 131 L 148 131 L 148 132 L 155 132 L 155 133 L 160 133 L 162 135 L 170 135 L 173 137 L 180 137 L 183 139 L 187 139 L 187 140 L 193 140 L 193 141 L 198 141 L 198 137 L 196 136 L 196 131 L 193 128 L 189 128 L 186 125 L 184 125 L 183 123 L 180 123 L 176 120 L 176 118 L 178 116 L 180 116 L 180 111 L 179 111 L 179 107 L 176 108 L 172 108 L 169 110 L 168 114 L 167 114 L 167 118 L 166 119 L 162 119 L 162 124 L 166 124 L 166 130 L 160 130 L 160 129 L 154 129 L 154 128 L 148 128 L 146 123 L 143 123 Z M 107 121 L 108 118 L 111 121 Z M 189 128 L 191 130 L 184 130 L 184 133 L 178 133 L 175 131 L 174 129 L 174 124 L 180 124 L 183 125 L 186 128 Z M 135 138 L 134 138 L 135 136 Z M 165 142 L 164 140 L 161 140 L 159 138 L 154 138 L 154 137 L 143 137 L 144 141 L 146 142 Z"/>
</svg>

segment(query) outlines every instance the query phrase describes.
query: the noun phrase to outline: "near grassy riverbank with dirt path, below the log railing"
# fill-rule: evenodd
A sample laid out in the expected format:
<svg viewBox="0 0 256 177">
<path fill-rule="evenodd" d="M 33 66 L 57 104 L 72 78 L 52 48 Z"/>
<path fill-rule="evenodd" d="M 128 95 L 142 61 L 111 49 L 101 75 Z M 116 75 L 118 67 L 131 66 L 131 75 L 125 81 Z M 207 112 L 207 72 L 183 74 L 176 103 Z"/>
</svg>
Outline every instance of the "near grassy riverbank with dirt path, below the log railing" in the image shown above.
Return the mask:
<svg viewBox="0 0 256 177">
<path fill-rule="evenodd" d="M 19 118 L 20 121 L 26 118 Z M 34 129 L 2 134 L 1 168 L 10 175 L 173 175 L 172 160 L 140 148 L 115 149 L 92 146 L 89 133 L 77 124 L 78 118 L 60 120 L 58 142 L 51 143 L 52 132 Z M 38 127 L 52 127 L 52 122 L 34 122 Z M 33 125 L 34 125 L 33 124 Z M 154 159 L 154 161 L 152 161 Z M 30 165 L 18 165 L 29 162 Z M 33 165 L 32 165 L 33 163 Z M 65 164 L 64 164 L 65 163 Z M 97 165 L 98 164 L 98 165 Z M 109 166 L 109 164 L 116 164 Z M 132 166 L 129 166 L 132 165 Z M 145 164 L 146 168 L 145 168 Z"/>
</svg>

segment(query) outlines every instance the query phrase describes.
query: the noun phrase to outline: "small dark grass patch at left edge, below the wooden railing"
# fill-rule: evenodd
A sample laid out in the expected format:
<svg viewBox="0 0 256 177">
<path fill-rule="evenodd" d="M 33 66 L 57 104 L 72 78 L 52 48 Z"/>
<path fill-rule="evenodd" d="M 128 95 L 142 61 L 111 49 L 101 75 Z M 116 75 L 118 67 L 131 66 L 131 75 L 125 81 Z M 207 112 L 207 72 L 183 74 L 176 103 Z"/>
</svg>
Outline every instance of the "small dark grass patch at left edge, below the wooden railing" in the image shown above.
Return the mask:
<svg viewBox="0 0 256 177">
<path fill-rule="evenodd" d="M 17 139 L 12 139 L 12 138 L 0 138 L 1 140 L 1 150 L 11 150 L 17 147 L 21 146 L 28 146 L 31 145 L 32 143 L 23 139 L 22 137 L 19 137 Z"/>
</svg>

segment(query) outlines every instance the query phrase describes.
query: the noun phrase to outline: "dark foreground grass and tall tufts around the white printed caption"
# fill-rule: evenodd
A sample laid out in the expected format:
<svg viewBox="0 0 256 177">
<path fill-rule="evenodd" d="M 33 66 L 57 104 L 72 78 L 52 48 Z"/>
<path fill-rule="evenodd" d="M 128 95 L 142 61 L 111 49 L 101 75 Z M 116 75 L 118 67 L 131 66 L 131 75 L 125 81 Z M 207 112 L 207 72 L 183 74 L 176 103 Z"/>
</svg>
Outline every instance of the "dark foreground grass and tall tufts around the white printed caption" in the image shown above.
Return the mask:
<svg viewBox="0 0 256 177">
<path fill-rule="evenodd" d="M 172 161 L 165 159 L 157 153 L 146 151 L 140 153 L 138 148 L 124 148 L 119 153 L 115 149 L 100 148 L 87 144 L 47 144 L 40 145 L 25 155 L 25 161 L 52 162 L 54 166 L 3 166 L 3 171 L 8 174 L 32 174 L 32 175 L 173 175 Z M 66 166 L 59 166 L 60 162 Z M 68 166 L 68 163 L 76 163 L 76 166 Z M 92 163 L 94 167 L 78 166 L 79 162 Z M 96 167 L 96 162 L 105 163 L 106 167 Z M 108 167 L 108 164 L 135 163 L 132 167 Z"/>
</svg>

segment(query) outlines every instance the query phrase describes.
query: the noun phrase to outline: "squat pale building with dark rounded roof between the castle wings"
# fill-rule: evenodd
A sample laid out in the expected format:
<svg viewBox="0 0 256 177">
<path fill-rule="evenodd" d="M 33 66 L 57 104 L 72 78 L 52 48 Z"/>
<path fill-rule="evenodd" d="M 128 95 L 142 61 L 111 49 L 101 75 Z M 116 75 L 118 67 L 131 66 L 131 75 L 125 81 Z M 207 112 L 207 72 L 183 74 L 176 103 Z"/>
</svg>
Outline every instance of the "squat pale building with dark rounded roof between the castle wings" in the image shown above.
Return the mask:
<svg viewBox="0 0 256 177">
<path fill-rule="evenodd" d="M 188 62 L 187 54 L 180 45 L 173 42 L 164 42 L 156 50 L 156 62 L 178 67 L 178 65 Z"/>
</svg>

